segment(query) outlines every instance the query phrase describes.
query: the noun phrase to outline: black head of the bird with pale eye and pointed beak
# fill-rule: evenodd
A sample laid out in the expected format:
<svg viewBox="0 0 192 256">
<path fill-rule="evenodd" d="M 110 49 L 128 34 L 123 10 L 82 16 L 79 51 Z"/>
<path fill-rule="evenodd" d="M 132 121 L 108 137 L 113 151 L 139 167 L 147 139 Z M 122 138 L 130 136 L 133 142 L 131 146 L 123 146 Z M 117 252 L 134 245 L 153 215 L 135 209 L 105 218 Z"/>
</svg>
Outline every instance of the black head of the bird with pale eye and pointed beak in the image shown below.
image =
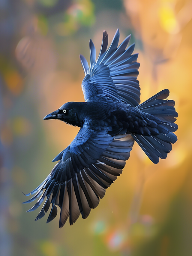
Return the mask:
<svg viewBox="0 0 192 256">
<path fill-rule="evenodd" d="M 76 103 L 80 102 L 67 102 L 58 110 L 46 115 L 44 119 L 58 119 L 65 123 L 81 127 L 81 122 L 78 117 L 80 108 L 76 106 Z"/>
</svg>

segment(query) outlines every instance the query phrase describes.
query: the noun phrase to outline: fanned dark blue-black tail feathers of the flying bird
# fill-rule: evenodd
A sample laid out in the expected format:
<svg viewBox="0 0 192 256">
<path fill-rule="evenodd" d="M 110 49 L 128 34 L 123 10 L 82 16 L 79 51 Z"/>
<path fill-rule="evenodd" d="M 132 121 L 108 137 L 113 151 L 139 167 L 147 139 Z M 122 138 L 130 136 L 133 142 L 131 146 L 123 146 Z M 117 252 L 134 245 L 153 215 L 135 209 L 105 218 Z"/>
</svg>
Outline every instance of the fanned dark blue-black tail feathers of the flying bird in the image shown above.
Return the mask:
<svg viewBox="0 0 192 256">
<path fill-rule="evenodd" d="M 149 120 L 151 123 L 146 125 L 149 129 L 155 127 L 157 135 L 132 134 L 154 164 L 159 162 L 159 158 L 165 159 L 167 153 L 172 149 L 171 143 L 177 141 L 177 136 L 173 132 L 178 129 L 177 124 L 174 123 L 178 114 L 174 108 L 175 101 L 165 100 L 168 96 L 169 90 L 165 89 L 136 107 L 140 111 L 152 115 L 152 118 L 155 117 L 152 122 Z"/>
</svg>

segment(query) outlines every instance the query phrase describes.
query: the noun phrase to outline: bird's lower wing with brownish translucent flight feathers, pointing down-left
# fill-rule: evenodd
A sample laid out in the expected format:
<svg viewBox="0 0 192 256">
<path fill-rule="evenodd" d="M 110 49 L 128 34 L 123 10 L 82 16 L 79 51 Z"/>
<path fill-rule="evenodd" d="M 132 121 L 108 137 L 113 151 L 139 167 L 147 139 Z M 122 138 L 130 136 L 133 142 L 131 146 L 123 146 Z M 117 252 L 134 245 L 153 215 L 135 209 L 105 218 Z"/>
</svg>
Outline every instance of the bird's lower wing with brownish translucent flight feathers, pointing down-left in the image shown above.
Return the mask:
<svg viewBox="0 0 192 256">
<path fill-rule="evenodd" d="M 68 217 L 70 225 L 80 214 L 85 219 L 91 208 L 97 207 L 105 189 L 122 173 L 134 144 L 131 135 L 110 136 L 107 132 L 107 128 L 93 131 L 82 127 L 71 144 L 53 159 L 59 162 L 44 182 L 27 194 L 35 195 L 24 202 L 30 203 L 39 198 L 29 210 L 34 211 L 46 198 L 35 220 L 45 215 L 50 204 L 52 207 L 47 222 L 56 217 L 55 205 L 58 205 L 61 208 L 59 227 L 65 224 Z"/>
</svg>

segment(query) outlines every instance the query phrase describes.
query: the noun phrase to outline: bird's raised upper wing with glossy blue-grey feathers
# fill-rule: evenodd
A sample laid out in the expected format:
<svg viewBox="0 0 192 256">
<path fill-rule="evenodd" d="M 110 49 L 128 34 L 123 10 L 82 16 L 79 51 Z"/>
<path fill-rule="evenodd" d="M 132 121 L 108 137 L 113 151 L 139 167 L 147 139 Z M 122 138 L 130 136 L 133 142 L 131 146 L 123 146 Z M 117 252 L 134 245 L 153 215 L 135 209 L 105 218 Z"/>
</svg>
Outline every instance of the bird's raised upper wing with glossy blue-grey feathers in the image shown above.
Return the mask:
<svg viewBox="0 0 192 256">
<path fill-rule="evenodd" d="M 137 80 L 140 66 L 137 62 L 138 54 L 131 55 L 134 51 L 134 44 L 125 49 L 130 38 L 131 35 L 125 38 L 118 47 L 118 29 L 107 50 L 108 35 L 104 30 L 97 60 L 95 46 L 90 40 L 90 66 L 88 66 L 86 59 L 80 55 L 85 72 L 85 78 L 82 81 L 85 102 L 92 101 L 96 95 L 101 94 L 117 101 L 127 102 L 132 107 L 140 103 L 140 87 Z"/>
</svg>

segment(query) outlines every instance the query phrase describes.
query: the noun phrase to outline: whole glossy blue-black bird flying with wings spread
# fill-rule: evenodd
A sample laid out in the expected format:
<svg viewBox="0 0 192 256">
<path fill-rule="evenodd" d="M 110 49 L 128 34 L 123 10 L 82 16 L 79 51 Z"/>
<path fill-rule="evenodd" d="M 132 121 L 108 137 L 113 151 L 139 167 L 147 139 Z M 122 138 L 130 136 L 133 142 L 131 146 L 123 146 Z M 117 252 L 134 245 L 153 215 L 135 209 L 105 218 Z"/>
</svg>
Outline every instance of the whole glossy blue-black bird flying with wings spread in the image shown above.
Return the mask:
<svg viewBox="0 0 192 256">
<path fill-rule="evenodd" d="M 134 44 L 125 49 L 131 35 L 119 45 L 119 29 L 110 47 L 104 30 L 101 50 L 96 51 L 90 40 L 90 66 L 80 55 L 85 72 L 82 91 L 85 102 L 68 102 L 44 119 L 59 119 L 80 127 L 71 144 L 53 161 L 59 161 L 38 188 L 30 203 L 39 198 L 29 210 L 34 211 L 44 201 L 35 220 L 41 219 L 52 205 L 47 223 L 61 208 L 59 227 L 69 217 L 70 225 L 79 215 L 86 219 L 99 204 L 111 183 L 122 173 L 125 160 L 136 141 L 154 164 L 165 159 L 171 143 L 177 141 L 173 133 L 178 117 L 173 100 L 166 100 L 165 89 L 140 103 L 137 80 L 138 54 L 133 54 Z"/>
</svg>

